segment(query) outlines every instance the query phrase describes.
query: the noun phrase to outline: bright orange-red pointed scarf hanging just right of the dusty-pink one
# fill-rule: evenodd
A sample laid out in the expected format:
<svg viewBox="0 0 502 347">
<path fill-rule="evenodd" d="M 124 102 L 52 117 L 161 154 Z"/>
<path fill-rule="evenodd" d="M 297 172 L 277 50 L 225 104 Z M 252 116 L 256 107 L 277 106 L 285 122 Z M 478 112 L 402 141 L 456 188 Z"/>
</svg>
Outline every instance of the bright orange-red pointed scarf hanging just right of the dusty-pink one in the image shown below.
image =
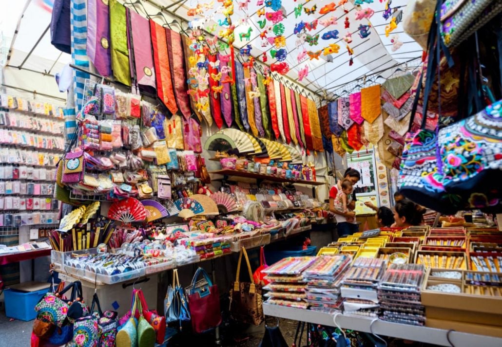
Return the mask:
<svg viewBox="0 0 502 347">
<path fill-rule="evenodd" d="M 178 111 L 174 97 L 171 68 L 167 54 L 166 30 L 163 26 L 150 20 L 152 46 L 154 48 L 155 74 L 157 79 L 157 96 L 167 109 L 175 114 Z"/>
</svg>

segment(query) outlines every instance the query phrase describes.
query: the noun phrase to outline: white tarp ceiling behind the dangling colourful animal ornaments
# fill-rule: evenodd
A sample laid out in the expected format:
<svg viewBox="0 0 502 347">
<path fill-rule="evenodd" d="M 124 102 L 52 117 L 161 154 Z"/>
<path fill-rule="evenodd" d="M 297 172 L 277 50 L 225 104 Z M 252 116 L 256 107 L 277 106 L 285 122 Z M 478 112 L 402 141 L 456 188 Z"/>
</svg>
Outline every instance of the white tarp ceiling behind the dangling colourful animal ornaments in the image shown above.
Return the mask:
<svg viewBox="0 0 502 347">
<path fill-rule="evenodd" d="M 120 1 L 120 0 L 119 0 Z M 211 0 L 187 0 L 186 2 L 181 2 L 180 5 L 171 6 L 169 11 L 175 11 L 175 14 L 186 19 L 193 20 L 197 17 L 187 16 L 187 11 L 190 8 L 194 8 L 197 4 L 202 4 L 204 2 L 209 3 Z M 232 22 L 236 26 L 235 28 L 235 46 L 237 48 L 244 47 L 247 44 L 252 45 L 252 54 L 258 57 L 258 60 L 262 60 L 263 52 L 269 52 L 271 49 L 277 49 L 268 45 L 262 47 L 262 39 L 260 38 L 260 33 L 263 31 L 260 29 L 258 21 L 265 19 L 265 17 L 258 17 L 257 11 L 263 6 L 258 6 L 257 2 L 259 0 L 248 0 L 247 10 L 239 10 L 240 4 L 238 0 L 234 1 L 234 14 L 232 16 Z M 367 0 L 372 1 L 372 0 Z M 13 52 L 9 62 L 10 66 L 19 66 L 23 63 L 27 57 L 28 52 L 35 46 L 36 42 L 43 35 L 44 31 L 50 24 L 51 20 L 51 8 L 53 0 L 19 0 L 16 2 L 1 0 L 2 8 L 0 14 L 0 30 L 6 37 L 13 37 L 14 30 L 16 28 L 17 22 L 25 8 L 28 4 L 27 9 L 24 13 L 24 17 L 21 20 L 21 25 L 17 38 L 13 45 Z M 120 1 L 123 3 L 122 1 Z M 160 6 L 169 7 L 177 1 L 175 0 L 158 0 L 157 3 Z M 245 2 L 245 0 L 244 0 Z M 8 3 L 8 4 L 7 4 Z M 150 15 L 158 13 L 158 9 L 147 4 L 145 4 L 146 11 Z M 391 8 L 400 8 L 403 12 L 406 11 L 407 0 L 393 0 Z M 406 35 L 402 30 L 402 23 L 398 24 L 397 29 L 386 37 L 385 31 L 386 26 L 390 22 L 389 19 L 384 19 L 383 13 L 386 6 L 386 2 L 374 1 L 370 4 L 363 2 L 362 8 L 369 8 L 374 11 L 374 15 L 368 20 L 355 20 L 356 8 L 351 3 L 345 4 L 345 9 L 349 11 L 348 14 L 344 13 L 342 7 L 338 6 L 338 2 L 335 4 L 337 8 L 334 12 L 330 12 L 325 15 L 319 14 L 319 10 L 329 4 L 326 0 L 311 0 L 308 2 L 303 1 L 304 8 L 316 7 L 316 11 L 312 15 L 307 15 L 305 10 L 302 10 L 301 15 L 295 18 L 294 9 L 300 4 L 300 0 L 283 0 L 283 8 L 287 17 L 283 20 L 285 26 L 284 36 L 286 39 L 286 50 L 288 52 L 286 62 L 288 62 L 291 67 L 288 76 L 293 80 L 297 80 L 298 72 L 308 66 L 309 73 L 308 76 L 303 79 L 303 81 L 298 82 L 309 88 L 310 90 L 316 91 L 319 94 L 323 94 L 322 90 L 327 90 L 332 92 L 335 87 L 343 85 L 354 79 L 360 78 L 364 75 L 371 74 L 374 71 L 380 71 L 386 68 L 391 68 L 396 64 L 409 61 L 413 58 L 418 58 L 421 56 L 420 46 L 413 41 L 408 35 Z M 204 15 L 213 15 L 212 20 L 204 24 L 204 27 L 210 27 L 213 24 L 217 24 L 218 20 L 223 21 L 224 16 L 219 13 L 216 9 L 221 6 L 220 2 L 214 1 L 214 9 L 206 11 Z M 138 6 L 137 6 L 138 8 Z M 8 10 L 5 10 L 8 9 Z M 270 8 L 265 8 L 266 12 L 273 12 Z M 169 15 L 166 16 L 170 18 Z M 302 47 L 297 48 L 296 41 L 297 36 L 293 33 L 295 24 L 300 21 L 312 22 L 315 19 L 327 20 L 331 17 L 335 17 L 337 24 L 324 27 L 321 24 L 317 25 L 315 30 L 307 32 L 312 36 L 319 34 L 318 45 L 310 47 L 308 44 L 303 44 Z M 350 26 L 345 29 L 345 18 L 348 17 L 348 22 Z M 248 18 L 246 21 L 245 19 Z M 155 18 L 156 21 L 162 23 L 161 18 Z M 359 25 L 369 25 L 369 36 L 361 38 L 359 36 Z M 272 22 L 268 21 L 265 29 L 270 27 Z M 176 27 L 173 27 L 175 29 Z M 240 41 L 239 33 L 245 33 L 249 28 L 252 28 L 249 41 Z M 225 27 L 217 27 L 214 33 L 218 33 L 221 29 Z M 175 29 L 176 30 L 176 29 Z M 323 40 L 322 35 L 328 31 L 338 30 L 338 39 Z M 343 37 L 347 32 L 352 34 L 352 43 L 350 47 L 353 49 L 353 64 L 349 66 L 349 55 L 345 47 L 345 42 L 342 41 Z M 270 35 L 270 34 L 269 34 Z M 402 47 L 397 51 L 393 52 L 393 44 L 391 38 L 395 35 L 399 35 L 399 41 L 403 43 Z M 274 36 L 272 34 L 271 36 Z M 8 41 L 7 44 L 10 42 Z M 298 54 L 305 48 L 307 51 L 319 51 L 329 44 L 336 43 L 340 46 L 339 53 L 332 54 L 332 61 L 326 61 L 323 59 L 323 54 L 321 53 L 319 60 L 309 60 L 307 56 L 300 63 L 297 60 Z M 56 62 L 56 64 L 55 64 Z M 55 49 L 50 44 L 50 32 L 47 31 L 45 35 L 42 36 L 41 41 L 34 49 L 31 56 L 24 63 L 23 67 L 26 69 L 31 69 L 40 72 L 58 72 L 62 66 L 70 62 L 70 56 L 65 53 L 61 53 Z M 268 53 L 267 64 L 276 62 L 272 59 L 270 52 Z M 53 66 L 54 65 L 54 66 Z M 391 75 L 393 70 L 389 70 L 385 73 L 381 73 L 382 76 L 388 77 Z"/>
</svg>

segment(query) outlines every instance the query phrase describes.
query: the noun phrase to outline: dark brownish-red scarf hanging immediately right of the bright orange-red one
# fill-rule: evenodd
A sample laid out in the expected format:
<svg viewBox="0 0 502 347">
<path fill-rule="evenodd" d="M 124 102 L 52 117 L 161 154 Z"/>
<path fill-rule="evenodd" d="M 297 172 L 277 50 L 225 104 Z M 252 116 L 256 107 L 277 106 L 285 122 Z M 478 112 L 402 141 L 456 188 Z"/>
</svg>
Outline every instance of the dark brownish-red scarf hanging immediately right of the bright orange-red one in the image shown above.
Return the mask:
<svg viewBox="0 0 502 347">
<path fill-rule="evenodd" d="M 169 66 L 171 67 L 173 78 L 174 94 L 176 95 L 176 100 L 181 114 L 185 117 L 185 119 L 189 119 L 192 114 L 192 110 L 190 109 L 190 99 L 187 94 L 188 84 L 181 35 L 173 30 L 166 29 L 166 39 Z"/>
</svg>

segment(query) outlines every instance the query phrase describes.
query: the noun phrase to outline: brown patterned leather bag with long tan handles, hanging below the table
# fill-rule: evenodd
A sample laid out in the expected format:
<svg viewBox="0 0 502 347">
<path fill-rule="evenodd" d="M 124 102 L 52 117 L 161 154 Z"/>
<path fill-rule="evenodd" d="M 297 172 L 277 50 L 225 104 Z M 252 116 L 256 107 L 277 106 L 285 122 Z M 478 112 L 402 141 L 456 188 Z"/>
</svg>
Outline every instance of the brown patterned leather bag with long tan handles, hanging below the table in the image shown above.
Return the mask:
<svg viewBox="0 0 502 347">
<path fill-rule="evenodd" d="M 239 282 L 242 254 L 246 260 L 249 282 Z M 244 247 L 239 254 L 235 282 L 230 288 L 230 313 L 232 318 L 239 322 L 260 325 L 264 320 L 262 285 L 255 284 L 253 281 L 253 272 Z"/>
</svg>

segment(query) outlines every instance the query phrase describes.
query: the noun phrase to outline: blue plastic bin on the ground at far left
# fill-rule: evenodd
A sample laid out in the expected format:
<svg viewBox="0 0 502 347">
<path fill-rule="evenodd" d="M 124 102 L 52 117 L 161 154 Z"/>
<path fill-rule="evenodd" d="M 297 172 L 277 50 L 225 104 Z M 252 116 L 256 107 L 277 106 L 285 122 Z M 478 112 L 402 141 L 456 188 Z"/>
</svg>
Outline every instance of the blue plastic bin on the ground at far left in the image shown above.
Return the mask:
<svg viewBox="0 0 502 347">
<path fill-rule="evenodd" d="M 47 288 L 32 292 L 7 288 L 4 290 L 6 316 L 24 321 L 37 318 L 35 305 L 46 293 Z"/>
</svg>

